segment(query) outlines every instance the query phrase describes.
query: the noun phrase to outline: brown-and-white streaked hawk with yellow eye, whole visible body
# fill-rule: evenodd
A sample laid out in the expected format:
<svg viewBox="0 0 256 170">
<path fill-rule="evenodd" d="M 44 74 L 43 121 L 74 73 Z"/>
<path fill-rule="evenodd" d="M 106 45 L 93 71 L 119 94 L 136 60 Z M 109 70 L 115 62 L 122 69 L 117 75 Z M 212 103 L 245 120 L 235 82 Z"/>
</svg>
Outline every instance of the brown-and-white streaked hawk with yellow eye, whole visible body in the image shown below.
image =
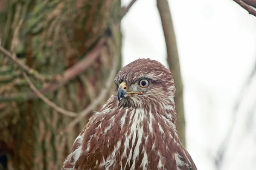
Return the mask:
<svg viewBox="0 0 256 170">
<path fill-rule="evenodd" d="M 137 59 L 76 138 L 62 170 L 197 170 L 177 136 L 172 73 Z"/>
</svg>

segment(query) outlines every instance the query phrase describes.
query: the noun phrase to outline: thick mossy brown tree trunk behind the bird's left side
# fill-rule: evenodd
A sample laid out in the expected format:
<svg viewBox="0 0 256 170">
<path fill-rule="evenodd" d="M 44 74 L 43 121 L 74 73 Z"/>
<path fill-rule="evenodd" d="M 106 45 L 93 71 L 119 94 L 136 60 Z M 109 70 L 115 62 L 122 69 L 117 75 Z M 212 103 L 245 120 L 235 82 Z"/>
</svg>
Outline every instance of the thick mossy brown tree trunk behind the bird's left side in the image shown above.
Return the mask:
<svg viewBox="0 0 256 170">
<path fill-rule="evenodd" d="M 120 0 L 0 0 L 1 45 L 29 67 L 50 76 L 62 74 L 107 36 L 86 71 L 45 93 L 56 105 L 79 112 L 104 88 L 114 56 L 119 65 L 116 73 L 121 67 L 120 9 Z M 47 85 L 29 78 L 38 89 Z M 2 157 L 7 156 L 9 170 L 60 169 L 87 119 L 57 137 L 73 118 L 36 96 L 27 97 L 31 92 L 22 71 L 0 54 L 0 162 L 4 167 Z"/>
</svg>

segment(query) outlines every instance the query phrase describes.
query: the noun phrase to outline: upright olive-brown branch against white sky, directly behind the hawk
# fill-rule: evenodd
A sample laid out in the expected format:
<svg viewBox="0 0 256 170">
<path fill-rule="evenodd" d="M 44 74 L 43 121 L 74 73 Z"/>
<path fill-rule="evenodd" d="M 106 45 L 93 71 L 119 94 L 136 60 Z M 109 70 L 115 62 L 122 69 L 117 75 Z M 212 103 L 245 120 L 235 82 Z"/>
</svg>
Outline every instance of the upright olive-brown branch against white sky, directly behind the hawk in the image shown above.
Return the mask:
<svg viewBox="0 0 256 170">
<path fill-rule="evenodd" d="M 168 0 L 157 0 L 157 8 L 162 21 L 163 33 L 166 41 L 167 62 L 175 81 L 176 92 L 174 100 L 177 113 L 177 132 L 181 143 L 185 146 L 186 136 L 183 106 L 183 83 L 180 75 L 179 55 Z"/>
</svg>

